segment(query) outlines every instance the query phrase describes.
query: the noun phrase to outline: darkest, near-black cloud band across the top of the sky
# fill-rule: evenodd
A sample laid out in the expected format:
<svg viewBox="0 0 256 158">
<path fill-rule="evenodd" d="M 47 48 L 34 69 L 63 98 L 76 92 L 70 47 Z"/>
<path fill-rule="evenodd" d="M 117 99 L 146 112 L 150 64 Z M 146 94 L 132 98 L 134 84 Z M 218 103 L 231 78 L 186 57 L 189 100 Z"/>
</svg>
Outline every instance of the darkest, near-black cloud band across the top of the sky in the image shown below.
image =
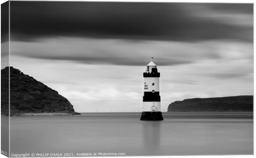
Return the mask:
<svg viewBox="0 0 256 158">
<path fill-rule="evenodd" d="M 182 41 L 253 39 L 252 24 L 232 23 L 239 23 L 237 15 L 249 16 L 252 21 L 252 4 L 11 1 L 10 12 L 11 40 L 33 41 L 54 35 Z M 230 22 L 205 16 L 220 13 L 227 14 Z"/>
</svg>

